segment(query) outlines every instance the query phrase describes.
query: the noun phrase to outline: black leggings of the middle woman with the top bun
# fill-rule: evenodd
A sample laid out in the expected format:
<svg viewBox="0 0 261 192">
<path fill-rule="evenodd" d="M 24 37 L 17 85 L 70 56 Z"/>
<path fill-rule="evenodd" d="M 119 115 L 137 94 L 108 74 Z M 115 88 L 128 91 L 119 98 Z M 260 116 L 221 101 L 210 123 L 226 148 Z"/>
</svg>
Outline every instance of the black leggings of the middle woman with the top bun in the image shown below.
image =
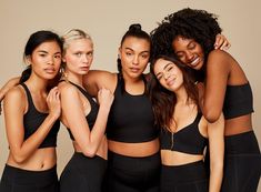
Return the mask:
<svg viewBox="0 0 261 192">
<path fill-rule="evenodd" d="M 109 151 L 106 192 L 159 192 L 160 153 L 132 158 Z"/>
</svg>

